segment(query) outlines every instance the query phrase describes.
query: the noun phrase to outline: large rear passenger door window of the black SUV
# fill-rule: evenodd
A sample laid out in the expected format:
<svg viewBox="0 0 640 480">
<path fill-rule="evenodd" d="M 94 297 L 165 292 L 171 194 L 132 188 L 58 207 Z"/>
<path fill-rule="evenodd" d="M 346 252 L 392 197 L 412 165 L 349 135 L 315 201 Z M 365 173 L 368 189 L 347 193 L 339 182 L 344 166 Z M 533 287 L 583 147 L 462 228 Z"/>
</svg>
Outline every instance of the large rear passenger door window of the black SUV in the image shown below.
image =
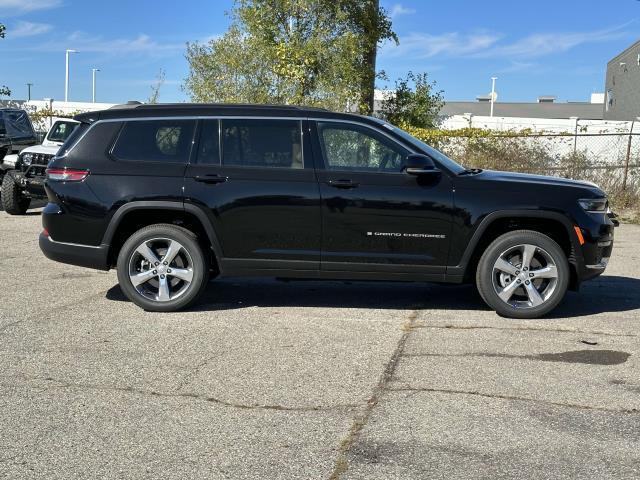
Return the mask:
<svg viewBox="0 0 640 480">
<path fill-rule="evenodd" d="M 297 120 L 222 120 L 222 163 L 303 168 Z"/>
</svg>

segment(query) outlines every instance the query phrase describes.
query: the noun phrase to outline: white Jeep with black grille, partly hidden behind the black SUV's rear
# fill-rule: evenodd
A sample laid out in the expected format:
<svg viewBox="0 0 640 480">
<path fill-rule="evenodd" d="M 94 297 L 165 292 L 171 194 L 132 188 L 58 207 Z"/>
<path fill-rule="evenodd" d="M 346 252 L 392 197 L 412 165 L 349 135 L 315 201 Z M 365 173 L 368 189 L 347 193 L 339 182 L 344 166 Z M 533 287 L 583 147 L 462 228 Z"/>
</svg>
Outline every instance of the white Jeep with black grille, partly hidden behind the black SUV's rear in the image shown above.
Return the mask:
<svg viewBox="0 0 640 480">
<path fill-rule="evenodd" d="M 55 118 L 41 145 L 24 148 L 5 156 L 2 165 L 2 207 L 11 215 L 24 215 L 33 199 L 46 198 L 47 164 L 80 124 L 69 118 Z"/>
</svg>

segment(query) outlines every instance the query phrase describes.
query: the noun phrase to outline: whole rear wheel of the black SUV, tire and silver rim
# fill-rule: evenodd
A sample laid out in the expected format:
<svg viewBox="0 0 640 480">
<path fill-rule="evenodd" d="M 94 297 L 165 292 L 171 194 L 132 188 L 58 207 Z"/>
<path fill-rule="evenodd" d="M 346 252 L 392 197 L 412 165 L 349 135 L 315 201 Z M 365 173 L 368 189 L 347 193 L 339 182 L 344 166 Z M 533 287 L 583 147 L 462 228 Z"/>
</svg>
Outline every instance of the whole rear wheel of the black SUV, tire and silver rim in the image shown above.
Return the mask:
<svg viewBox="0 0 640 480">
<path fill-rule="evenodd" d="M 172 258 L 164 264 L 168 254 Z M 176 225 L 156 224 L 135 232 L 120 249 L 118 282 L 126 297 L 139 307 L 151 312 L 174 312 L 193 304 L 202 294 L 209 268 L 193 232 Z"/>
</svg>

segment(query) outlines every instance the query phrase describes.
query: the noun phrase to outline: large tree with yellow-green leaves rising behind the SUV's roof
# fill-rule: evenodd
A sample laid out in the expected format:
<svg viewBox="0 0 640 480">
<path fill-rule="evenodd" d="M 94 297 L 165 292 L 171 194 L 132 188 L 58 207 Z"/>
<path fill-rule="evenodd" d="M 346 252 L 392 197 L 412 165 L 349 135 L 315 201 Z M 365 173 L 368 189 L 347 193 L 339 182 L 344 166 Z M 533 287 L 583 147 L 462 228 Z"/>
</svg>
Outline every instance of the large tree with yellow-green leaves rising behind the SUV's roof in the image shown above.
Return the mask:
<svg viewBox="0 0 640 480">
<path fill-rule="evenodd" d="M 222 37 L 187 46 L 185 89 L 196 101 L 359 106 L 371 62 L 365 11 L 353 3 L 236 0 Z"/>
</svg>

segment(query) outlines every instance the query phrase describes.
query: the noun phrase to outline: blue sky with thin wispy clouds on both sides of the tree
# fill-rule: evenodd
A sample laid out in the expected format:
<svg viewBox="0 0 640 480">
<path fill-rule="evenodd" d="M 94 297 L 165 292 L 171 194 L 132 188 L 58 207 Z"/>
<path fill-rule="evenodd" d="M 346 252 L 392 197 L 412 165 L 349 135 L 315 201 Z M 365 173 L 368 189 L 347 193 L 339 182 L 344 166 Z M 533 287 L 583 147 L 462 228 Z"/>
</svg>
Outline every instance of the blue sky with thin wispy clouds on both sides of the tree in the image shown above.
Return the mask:
<svg viewBox="0 0 640 480">
<path fill-rule="evenodd" d="M 447 100 L 469 100 L 498 77 L 502 101 L 538 95 L 587 100 L 604 89 L 609 59 L 640 38 L 640 1 L 382 0 L 400 45 L 384 45 L 379 68 L 390 79 L 428 72 Z M 145 100 L 166 71 L 160 101 L 184 101 L 188 41 L 224 33 L 231 0 L 0 0 L 0 84 L 13 98 L 64 97 L 64 51 L 72 56 L 70 99 Z M 392 82 L 390 82 L 392 84 Z M 384 82 L 380 86 L 384 86 Z"/>
</svg>

